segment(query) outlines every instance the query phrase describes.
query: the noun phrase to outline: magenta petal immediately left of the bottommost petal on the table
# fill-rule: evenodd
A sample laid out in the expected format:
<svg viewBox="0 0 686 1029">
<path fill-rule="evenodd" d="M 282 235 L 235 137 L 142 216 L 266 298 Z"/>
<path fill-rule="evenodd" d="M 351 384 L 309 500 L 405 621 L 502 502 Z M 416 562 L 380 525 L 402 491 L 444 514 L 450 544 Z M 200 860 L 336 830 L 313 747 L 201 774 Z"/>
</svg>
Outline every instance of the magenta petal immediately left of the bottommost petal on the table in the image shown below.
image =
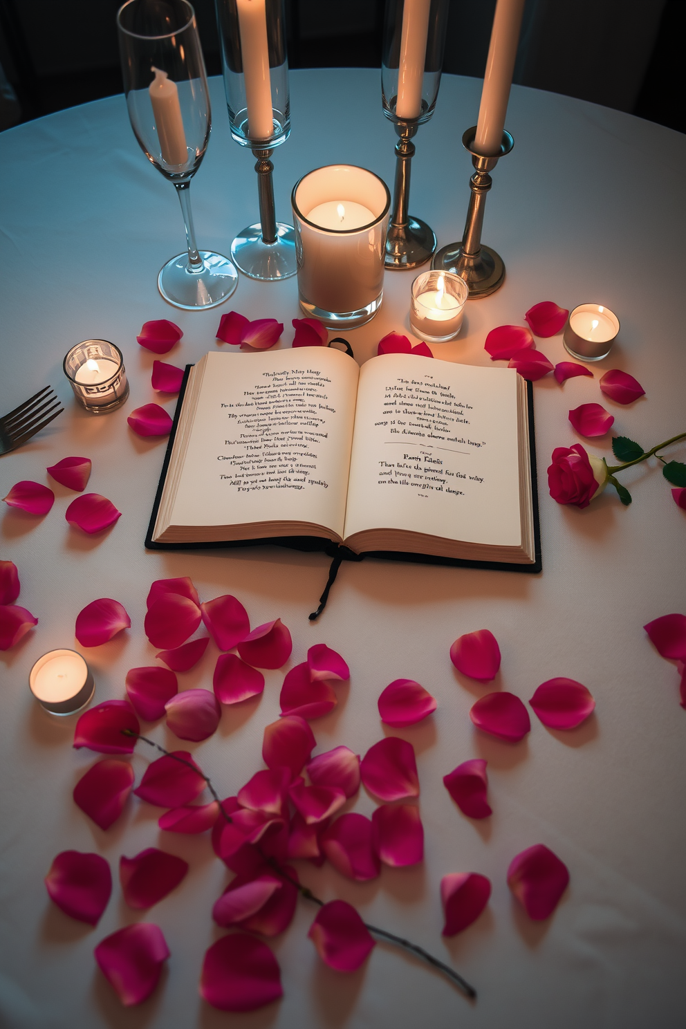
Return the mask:
<svg viewBox="0 0 686 1029">
<path fill-rule="evenodd" d="M 146 1000 L 170 956 L 161 929 L 150 922 L 136 922 L 106 936 L 94 951 L 100 970 L 124 1007 Z"/>
</svg>

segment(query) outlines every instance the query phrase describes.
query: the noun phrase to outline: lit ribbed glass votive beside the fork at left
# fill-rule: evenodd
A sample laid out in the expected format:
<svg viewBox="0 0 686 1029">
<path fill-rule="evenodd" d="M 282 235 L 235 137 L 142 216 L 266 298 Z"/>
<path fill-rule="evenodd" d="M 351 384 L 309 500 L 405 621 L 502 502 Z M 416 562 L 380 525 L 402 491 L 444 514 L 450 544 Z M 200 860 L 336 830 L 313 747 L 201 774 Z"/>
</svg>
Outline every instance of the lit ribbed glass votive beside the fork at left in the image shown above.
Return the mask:
<svg viewBox="0 0 686 1029">
<path fill-rule="evenodd" d="M 107 415 L 129 396 L 123 357 L 107 340 L 84 340 L 69 351 L 64 360 L 74 396 L 93 415 Z"/>
</svg>

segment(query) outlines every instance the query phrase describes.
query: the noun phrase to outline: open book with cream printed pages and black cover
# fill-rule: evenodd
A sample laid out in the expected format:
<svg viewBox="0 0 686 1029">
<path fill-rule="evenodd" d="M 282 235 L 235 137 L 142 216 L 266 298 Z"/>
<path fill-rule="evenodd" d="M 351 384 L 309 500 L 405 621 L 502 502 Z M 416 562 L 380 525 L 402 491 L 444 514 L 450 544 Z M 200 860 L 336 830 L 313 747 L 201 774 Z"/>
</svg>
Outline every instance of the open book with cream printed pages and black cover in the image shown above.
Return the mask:
<svg viewBox="0 0 686 1029">
<path fill-rule="evenodd" d="M 407 354 L 209 353 L 187 372 L 146 545 L 310 538 L 540 571 L 527 387 Z"/>
</svg>

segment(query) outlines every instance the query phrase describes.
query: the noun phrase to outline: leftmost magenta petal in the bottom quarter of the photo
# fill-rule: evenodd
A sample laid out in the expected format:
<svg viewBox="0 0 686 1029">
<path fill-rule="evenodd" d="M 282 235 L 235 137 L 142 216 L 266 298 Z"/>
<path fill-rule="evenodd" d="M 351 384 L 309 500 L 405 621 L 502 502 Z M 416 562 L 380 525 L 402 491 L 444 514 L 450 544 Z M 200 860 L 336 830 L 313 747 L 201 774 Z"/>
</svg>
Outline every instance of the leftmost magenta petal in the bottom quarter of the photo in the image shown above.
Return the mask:
<svg viewBox="0 0 686 1029">
<path fill-rule="evenodd" d="M 64 850 L 52 861 L 45 886 L 65 915 L 97 925 L 112 892 L 112 873 L 100 854 Z"/>
</svg>

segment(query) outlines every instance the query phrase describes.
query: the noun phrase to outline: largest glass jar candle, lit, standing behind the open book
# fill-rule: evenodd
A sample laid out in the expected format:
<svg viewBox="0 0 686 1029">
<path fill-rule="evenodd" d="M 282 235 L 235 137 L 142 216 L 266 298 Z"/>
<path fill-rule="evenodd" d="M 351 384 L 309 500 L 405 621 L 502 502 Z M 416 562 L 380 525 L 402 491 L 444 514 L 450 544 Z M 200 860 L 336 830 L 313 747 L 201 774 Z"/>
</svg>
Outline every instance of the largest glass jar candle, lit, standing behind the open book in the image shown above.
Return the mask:
<svg viewBox="0 0 686 1029">
<path fill-rule="evenodd" d="M 384 298 L 388 186 L 364 168 L 330 165 L 303 175 L 291 204 L 300 307 L 330 328 L 364 325 Z"/>
</svg>

